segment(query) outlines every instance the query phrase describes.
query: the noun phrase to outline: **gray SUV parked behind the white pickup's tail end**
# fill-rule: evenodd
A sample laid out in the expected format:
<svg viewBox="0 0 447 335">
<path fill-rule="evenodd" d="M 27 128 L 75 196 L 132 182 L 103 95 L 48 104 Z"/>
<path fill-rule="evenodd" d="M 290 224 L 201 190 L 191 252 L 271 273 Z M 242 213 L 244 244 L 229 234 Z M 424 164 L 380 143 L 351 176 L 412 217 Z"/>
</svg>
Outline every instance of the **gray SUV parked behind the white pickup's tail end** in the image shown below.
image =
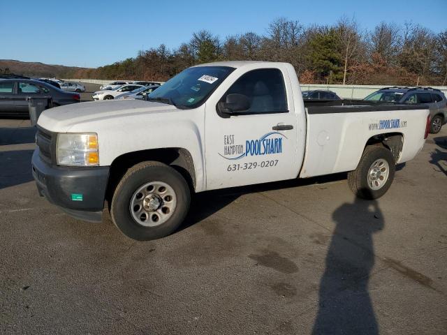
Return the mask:
<svg viewBox="0 0 447 335">
<path fill-rule="evenodd" d="M 430 108 L 430 133 L 437 134 L 447 122 L 447 99 L 432 87 L 385 87 L 369 94 L 364 100 L 383 103 L 423 103 Z"/>
</svg>

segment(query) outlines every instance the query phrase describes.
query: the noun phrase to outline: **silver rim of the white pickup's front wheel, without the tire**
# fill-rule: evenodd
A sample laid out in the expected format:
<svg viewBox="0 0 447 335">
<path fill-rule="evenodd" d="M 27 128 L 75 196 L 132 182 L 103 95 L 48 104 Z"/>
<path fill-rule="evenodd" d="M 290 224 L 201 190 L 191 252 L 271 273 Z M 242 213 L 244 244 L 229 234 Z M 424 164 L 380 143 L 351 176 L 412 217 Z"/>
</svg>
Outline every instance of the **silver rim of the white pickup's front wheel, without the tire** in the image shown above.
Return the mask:
<svg viewBox="0 0 447 335">
<path fill-rule="evenodd" d="M 177 205 L 174 189 L 163 181 L 150 181 L 133 193 L 129 211 L 133 220 L 144 227 L 162 225 Z"/>
</svg>

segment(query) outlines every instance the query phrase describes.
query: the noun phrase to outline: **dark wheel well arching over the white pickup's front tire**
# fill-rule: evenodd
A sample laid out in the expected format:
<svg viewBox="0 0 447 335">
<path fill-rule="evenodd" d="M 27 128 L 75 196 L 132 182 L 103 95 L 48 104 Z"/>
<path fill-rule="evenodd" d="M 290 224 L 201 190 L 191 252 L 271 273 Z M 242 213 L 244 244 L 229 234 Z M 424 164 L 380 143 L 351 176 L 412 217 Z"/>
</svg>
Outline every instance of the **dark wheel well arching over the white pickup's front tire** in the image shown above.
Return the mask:
<svg viewBox="0 0 447 335">
<path fill-rule="evenodd" d="M 110 165 L 106 199 L 111 200 L 113 192 L 126 171 L 133 165 L 144 161 L 157 161 L 175 168 L 193 191 L 196 188 L 196 170 L 191 154 L 183 148 L 163 148 L 133 151 L 118 156 Z"/>
</svg>

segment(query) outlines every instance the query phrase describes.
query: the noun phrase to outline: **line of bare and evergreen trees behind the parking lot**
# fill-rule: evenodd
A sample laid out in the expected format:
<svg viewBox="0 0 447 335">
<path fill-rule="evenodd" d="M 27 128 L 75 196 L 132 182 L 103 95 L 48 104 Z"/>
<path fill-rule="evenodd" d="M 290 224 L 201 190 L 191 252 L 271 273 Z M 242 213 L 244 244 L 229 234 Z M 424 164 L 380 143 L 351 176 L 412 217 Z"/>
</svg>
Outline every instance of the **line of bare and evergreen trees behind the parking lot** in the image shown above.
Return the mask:
<svg viewBox="0 0 447 335">
<path fill-rule="evenodd" d="M 162 44 L 73 77 L 165 81 L 194 64 L 226 60 L 286 61 L 303 84 L 446 85 L 447 29 L 435 34 L 411 22 L 381 22 L 362 30 L 346 17 L 305 27 L 281 17 L 264 35 L 249 31 L 222 39 L 201 30 L 173 50 Z"/>
</svg>

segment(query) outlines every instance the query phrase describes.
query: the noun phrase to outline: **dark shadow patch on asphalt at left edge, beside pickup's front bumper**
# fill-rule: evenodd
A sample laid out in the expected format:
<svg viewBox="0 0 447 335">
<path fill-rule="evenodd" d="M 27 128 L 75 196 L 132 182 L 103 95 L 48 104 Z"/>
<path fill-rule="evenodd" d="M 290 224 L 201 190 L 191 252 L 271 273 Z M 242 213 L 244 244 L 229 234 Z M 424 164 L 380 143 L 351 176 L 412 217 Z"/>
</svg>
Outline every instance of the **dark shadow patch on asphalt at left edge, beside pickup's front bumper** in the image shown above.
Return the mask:
<svg viewBox="0 0 447 335">
<path fill-rule="evenodd" d="M 0 189 L 34 180 L 31 173 L 33 151 L 0 151 Z"/>
</svg>

